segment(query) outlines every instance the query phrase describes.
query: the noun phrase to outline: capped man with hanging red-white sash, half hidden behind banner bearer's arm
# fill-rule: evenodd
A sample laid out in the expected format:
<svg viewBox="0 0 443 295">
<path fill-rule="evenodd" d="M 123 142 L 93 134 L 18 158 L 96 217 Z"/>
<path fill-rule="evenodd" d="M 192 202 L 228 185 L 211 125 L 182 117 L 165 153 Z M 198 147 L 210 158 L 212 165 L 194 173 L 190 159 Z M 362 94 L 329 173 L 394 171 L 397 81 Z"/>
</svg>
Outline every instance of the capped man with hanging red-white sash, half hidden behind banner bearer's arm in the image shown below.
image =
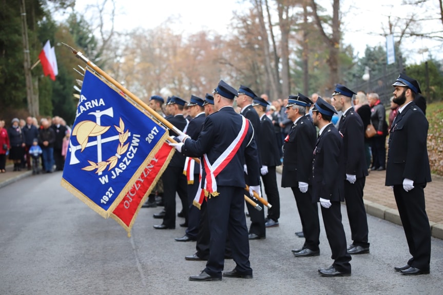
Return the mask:
<svg viewBox="0 0 443 295">
<path fill-rule="evenodd" d="M 191 99 L 188 103 L 189 115 L 192 120 L 189 122 L 186 134 L 191 137 L 192 140 L 197 140 L 205 122 L 205 112 L 203 107 L 204 101 L 195 95 L 191 95 Z M 186 233 L 181 238 L 176 238 L 177 242 L 195 241 L 199 231 L 200 223 L 200 210 L 192 205 L 199 188 L 199 174 L 200 165 L 187 157 L 183 171 L 186 171 L 187 180 L 187 195 L 188 195 L 188 227 Z"/>
</svg>

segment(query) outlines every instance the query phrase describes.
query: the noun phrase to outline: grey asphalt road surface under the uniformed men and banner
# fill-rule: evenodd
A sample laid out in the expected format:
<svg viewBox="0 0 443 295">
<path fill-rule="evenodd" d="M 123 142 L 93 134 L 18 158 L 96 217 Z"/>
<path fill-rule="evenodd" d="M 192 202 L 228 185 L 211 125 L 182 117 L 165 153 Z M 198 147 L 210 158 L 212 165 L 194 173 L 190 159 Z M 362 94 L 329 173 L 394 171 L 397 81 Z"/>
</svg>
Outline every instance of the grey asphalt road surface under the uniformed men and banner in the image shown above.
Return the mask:
<svg viewBox="0 0 443 295">
<path fill-rule="evenodd" d="M 182 219 L 175 230 L 156 230 L 152 225 L 159 220 L 152 214 L 161 207 L 142 208 L 127 238 L 120 225 L 63 189 L 61 175 L 31 176 L 0 189 L 0 294 L 443 293 L 443 241 L 432 238 L 429 275 L 402 276 L 393 269 L 410 258 L 402 227 L 370 215 L 371 253 L 353 256 L 351 277 L 320 277 L 317 268 L 332 263 L 323 226 L 319 257 L 291 253 L 303 239 L 294 234 L 301 225 L 290 189 L 280 189 L 280 226 L 250 243 L 254 279 L 191 282 L 188 277 L 200 273 L 205 262 L 184 260 L 195 252 L 195 243 L 174 241 L 184 234 L 178 226 Z M 349 244 L 345 212 L 342 206 Z M 234 266 L 228 260 L 225 270 Z"/>
</svg>

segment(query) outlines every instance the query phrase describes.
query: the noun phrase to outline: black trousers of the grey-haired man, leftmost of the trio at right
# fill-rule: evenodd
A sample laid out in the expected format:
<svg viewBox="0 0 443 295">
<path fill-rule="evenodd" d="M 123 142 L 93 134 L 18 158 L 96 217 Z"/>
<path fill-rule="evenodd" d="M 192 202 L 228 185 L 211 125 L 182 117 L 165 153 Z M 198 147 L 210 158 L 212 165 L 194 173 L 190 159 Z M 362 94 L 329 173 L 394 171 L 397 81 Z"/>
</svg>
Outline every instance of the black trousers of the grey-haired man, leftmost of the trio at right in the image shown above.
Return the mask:
<svg viewBox="0 0 443 295">
<path fill-rule="evenodd" d="M 298 187 L 291 187 L 291 189 L 297 203 L 305 239 L 303 248 L 317 251 L 320 244 L 320 221 L 318 219 L 318 203 L 312 203 L 312 186 L 309 186 L 305 193 L 301 192 Z"/>
</svg>

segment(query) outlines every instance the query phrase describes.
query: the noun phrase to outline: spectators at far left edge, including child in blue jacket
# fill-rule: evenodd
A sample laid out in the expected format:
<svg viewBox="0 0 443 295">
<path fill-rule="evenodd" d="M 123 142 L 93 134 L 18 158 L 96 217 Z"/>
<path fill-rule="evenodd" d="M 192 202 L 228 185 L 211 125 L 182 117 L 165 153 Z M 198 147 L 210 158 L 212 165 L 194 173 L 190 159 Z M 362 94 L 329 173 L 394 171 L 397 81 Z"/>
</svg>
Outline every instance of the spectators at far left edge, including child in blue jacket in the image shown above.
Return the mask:
<svg viewBox="0 0 443 295">
<path fill-rule="evenodd" d="M 14 118 L 9 127 L 0 121 L 0 173 L 6 172 L 6 162 L 13 171 L 27 169 L 36 173 L 61 171 L 65 165 L 71 129 L 59 116 L 35 117 L 26 121 Z"/>
</svg>

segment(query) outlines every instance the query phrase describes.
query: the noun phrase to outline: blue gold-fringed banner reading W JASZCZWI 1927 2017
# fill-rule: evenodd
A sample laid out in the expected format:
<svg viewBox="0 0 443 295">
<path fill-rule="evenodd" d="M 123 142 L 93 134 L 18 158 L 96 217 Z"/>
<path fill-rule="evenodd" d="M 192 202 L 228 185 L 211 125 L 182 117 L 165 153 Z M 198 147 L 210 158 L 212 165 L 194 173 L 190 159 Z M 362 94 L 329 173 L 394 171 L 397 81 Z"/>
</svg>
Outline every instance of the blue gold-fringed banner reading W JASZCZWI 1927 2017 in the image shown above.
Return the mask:
<svg viewBox="0 0 443 295">
<path fill-rule="evenodd" d="M 62 186 L 108 218 L 167 137 L 149 113 L 87 70 Z"/>
</svg>

